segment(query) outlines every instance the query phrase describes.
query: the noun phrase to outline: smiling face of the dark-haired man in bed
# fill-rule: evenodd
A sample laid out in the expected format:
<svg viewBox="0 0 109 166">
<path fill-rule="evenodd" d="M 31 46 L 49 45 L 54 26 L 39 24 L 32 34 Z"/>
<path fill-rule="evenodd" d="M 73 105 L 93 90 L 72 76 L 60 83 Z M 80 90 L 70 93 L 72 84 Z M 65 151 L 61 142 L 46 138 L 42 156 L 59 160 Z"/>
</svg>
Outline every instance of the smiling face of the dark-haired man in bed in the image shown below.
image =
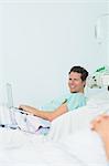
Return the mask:
<svg viewBox="0 0 109 166">
<path fill-rule="evenodd" d="M 81 74 L 77 72 L 72 72 L 68 79 L 68 86 L 70 93 L 80 92 L 84 93 L 85 81 L 81 80 Z"/>
</svg>

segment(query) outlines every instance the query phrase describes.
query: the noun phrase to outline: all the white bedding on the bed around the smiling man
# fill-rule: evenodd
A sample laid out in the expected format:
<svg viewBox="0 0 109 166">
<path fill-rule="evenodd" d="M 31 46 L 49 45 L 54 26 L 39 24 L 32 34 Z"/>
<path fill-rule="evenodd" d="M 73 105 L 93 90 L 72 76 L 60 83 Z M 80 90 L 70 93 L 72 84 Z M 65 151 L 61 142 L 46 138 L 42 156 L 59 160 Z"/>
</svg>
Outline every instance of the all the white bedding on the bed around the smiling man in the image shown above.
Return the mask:
<svg viewBox="0 0 109 166">
<path fill-rule="evenodd" d="M 109 110 L 109 95 L 99 97 L 54 120 L 46 136 L 1 127 L 0 165 L 107 166 L 103 144 L 89 127 L 91 120 Z"/>
</svg>

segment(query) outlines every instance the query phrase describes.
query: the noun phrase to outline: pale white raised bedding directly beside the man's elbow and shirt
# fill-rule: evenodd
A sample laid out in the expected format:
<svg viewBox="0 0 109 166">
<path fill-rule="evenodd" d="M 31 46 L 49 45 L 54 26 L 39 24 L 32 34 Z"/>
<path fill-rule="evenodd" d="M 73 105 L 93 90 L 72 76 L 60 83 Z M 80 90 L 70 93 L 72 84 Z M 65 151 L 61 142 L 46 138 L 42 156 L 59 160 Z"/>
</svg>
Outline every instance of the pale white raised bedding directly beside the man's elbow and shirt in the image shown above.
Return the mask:
<svg viewBox="0 0 109 166">
<path fill-rule="evenodd" d="M 58 141 L 68 134 L 90 127 L 90 122 L 99 114 L 109 110 L 108 104 L 87 104 L 86 106 L 68 112 L 52 122 L 50 139 Z"/>
</svg>

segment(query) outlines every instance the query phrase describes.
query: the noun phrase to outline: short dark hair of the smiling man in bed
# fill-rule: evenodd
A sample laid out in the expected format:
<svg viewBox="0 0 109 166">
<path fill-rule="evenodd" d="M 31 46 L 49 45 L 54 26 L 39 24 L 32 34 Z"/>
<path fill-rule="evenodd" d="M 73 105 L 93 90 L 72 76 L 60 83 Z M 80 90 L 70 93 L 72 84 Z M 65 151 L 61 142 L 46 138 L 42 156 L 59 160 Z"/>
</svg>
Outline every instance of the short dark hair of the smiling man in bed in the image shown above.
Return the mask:
<svg viewBox="0 0 109 166">
<path fill-rule="evenodd" d="M 81 68 L 79 65 L 73 66 L 68 74 L 70 74 L 72 72 L 80 73 L 81 74 L 80 77 L 83 81 L 86 81 L 86 79 L 88 76 L 87 70 L 85 70 L 84 68 Z"/>
</svg>

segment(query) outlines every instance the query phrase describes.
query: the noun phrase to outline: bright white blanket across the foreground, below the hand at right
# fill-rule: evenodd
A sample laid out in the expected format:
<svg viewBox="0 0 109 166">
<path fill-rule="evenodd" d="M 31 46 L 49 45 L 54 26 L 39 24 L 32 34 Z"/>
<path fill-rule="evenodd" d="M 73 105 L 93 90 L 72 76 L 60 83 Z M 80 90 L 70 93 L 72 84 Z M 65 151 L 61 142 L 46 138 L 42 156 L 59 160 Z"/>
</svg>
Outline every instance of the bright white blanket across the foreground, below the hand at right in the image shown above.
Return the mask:
<svg viewBox="0 0 109 166">
<path fill-rule="evenodd" d="M 2 166 L 107 166 L 99 136 L 88 128 L 61 142 L 0 129 L 0 165 Z"/>
</svg>

